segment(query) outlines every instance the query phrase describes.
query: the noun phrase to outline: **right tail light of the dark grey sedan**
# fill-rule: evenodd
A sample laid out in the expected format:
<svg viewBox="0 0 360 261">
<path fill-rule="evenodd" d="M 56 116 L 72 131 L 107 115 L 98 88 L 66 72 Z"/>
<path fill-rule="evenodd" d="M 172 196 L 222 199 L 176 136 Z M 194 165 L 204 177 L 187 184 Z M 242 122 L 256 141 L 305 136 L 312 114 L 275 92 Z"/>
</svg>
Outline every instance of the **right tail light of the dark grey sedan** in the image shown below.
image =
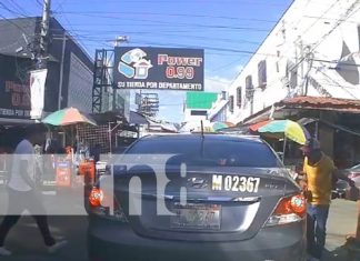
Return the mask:
<svg viewBox="0 0 360 261">
<path fill-rule="evenodd" d="M 266 225 L 279 225 L 301 221 L 307 214 L 307 201 L 302 194 L 283 198 L 279 201 Z"/>
</svg>

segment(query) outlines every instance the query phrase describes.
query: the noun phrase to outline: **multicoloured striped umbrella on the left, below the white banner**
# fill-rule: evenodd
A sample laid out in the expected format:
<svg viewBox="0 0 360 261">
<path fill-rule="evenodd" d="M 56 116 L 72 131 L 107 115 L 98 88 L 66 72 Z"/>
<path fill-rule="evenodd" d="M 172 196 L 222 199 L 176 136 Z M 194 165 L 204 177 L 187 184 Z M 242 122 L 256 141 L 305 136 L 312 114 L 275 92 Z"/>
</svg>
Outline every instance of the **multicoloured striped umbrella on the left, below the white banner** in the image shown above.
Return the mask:
<svg viewBox="0 0 360 261">
<path fill-rule="evenodd" d="M 51 126 L 72 126 L 77 123 L 89 123 L 92 126 L 97 124 L 90 116 L 79 111 L 76 108 L 66 108 L 52 112 L 42 120 L 42 123 Z"/>
</svg>

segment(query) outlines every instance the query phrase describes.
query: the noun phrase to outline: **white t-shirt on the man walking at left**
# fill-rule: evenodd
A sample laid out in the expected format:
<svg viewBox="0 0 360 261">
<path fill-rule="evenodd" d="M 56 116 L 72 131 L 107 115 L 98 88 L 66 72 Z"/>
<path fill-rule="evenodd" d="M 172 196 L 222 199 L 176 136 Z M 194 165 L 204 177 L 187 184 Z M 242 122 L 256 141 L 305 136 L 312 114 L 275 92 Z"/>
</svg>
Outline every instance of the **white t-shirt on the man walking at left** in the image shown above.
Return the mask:
<svg viewBox="0 0 360 261">
<path fill-rule="evenodd" d="M 28 162 L 28 171 L 26 174 L 34 180 L 36 170 L 36 154 L 33 145 L 28 140 L 22 140 L 12 157 L 11 178 L 8 183 L 10 189 L 17 191 L 30 191 L 31 187 L 23 180 L 20 173 L 20 162 L 26 160 Z"/>
</svg>

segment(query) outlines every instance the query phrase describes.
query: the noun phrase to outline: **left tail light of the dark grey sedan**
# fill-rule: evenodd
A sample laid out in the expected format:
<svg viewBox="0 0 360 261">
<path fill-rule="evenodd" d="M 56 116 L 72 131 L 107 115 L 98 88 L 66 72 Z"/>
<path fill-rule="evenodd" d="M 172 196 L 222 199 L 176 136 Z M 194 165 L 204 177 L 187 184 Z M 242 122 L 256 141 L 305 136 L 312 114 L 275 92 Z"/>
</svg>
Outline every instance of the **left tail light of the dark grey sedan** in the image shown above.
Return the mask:
<svg viewBox="0 0 360 261">
<path fill-rule="evenodd" d="M 99 188 L 93 188 L 89 194 L 89 212 L 106 219 L 116 220 L 120 222 L 128 222 L 128 219 L 121 209 L 119 201 L 113 197 L 108 197 Z M 110 213 L 110 204 L 113 204 L 113 213 Z"/>
</svg>

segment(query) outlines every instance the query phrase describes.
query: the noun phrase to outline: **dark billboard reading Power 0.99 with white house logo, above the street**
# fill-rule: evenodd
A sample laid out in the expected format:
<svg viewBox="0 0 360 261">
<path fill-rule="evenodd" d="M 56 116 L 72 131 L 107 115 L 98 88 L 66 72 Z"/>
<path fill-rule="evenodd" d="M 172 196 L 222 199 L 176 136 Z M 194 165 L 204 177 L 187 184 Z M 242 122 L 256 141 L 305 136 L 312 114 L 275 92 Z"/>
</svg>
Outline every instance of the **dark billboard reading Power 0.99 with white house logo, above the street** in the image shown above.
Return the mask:
<svg viewBox="0 0 360 261">
<path fill-rule="evenodd" d="M 119 89 L 203 91 L 203 50 L 173 48 L 114 49 Z"/>
</svg>

